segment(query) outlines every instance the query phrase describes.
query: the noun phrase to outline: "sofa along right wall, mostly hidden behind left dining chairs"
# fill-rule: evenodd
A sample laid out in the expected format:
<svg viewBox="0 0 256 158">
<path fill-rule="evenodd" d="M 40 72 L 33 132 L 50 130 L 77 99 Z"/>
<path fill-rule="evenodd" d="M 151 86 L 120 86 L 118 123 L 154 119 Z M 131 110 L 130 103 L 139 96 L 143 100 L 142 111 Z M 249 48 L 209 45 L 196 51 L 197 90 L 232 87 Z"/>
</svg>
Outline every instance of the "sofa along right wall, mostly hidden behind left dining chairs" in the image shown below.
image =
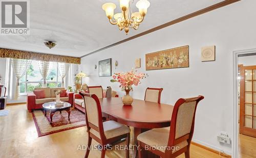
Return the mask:
<svg viewBox="0 0 256 158">
<path fill-rule="evenodd" d="M 106 97 L 106 90 L 103 89 L 103 97 Z M 116 91 L 112 91 L 112 97 L 118 97 L 117 92 Z M 73 106 L 82 111 L 83 113 L 86 113 L 86 109 L 85 109 L 85 105 L 84 105 L 84 101 L 83 98 L 80 94 L 75 93 L 74 94 L 74 103 Z"/>
</svg>

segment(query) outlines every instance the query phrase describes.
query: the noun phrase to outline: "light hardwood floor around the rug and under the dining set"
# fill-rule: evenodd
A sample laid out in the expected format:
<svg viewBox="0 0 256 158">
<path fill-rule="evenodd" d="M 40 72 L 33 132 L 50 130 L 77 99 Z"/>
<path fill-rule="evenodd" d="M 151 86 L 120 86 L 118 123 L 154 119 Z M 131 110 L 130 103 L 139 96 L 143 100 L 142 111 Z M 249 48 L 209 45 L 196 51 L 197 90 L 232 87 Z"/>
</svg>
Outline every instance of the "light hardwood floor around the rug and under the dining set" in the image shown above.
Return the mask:
<svg viewBox="0 0 256 158">
<path fill-rule="evenodd" d="M 87 145 L 86 127 L 70 129 L 38 138 L 32 115 L 26 110 L 25 104 L 7 106 L 6 109 L 10 110 L 9 115 L 0 117 L 0 157 L 39 158 L 84 156 L 86 149 L 80 150 L 79 148 Z M 253 141 L 246 136 L 241 138 L 241 153 L 243 157 L 256 155 L 255 149 L 252 149 L 252 147 L 255 148 L 256 140 Z M 247 145 L 247 141 L 251 144 Z M 92 144 L 97 145 L 95 141 Z M 248 146 L 251 148 L 249 149 Z M 114 149 L 107 151 L 106 157 L 124 157 L 124 153 L 124 151 Z M 191 145 L 190 155 L 195 158 L 220 157 L 214 152 L 195 145 Z M 100 151 L 91 150 L 89 157 L 100 157 Z M 179 156 L 179 158 L 183 157 L 185 157 L 184 154 Z"/>
</svg>

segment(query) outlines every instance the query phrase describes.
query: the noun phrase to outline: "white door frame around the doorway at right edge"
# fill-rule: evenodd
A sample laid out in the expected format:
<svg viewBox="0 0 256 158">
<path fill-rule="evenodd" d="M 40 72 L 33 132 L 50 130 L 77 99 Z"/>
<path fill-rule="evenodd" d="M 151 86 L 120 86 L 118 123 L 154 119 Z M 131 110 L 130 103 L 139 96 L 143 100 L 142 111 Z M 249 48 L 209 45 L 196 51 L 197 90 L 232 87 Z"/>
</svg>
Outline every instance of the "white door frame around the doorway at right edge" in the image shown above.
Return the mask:
<svg viewBox="0 0 256 158">
<path fill-rule="evenodd" d="M 232 157 L 238 157 L 238 55 L 255 53 L 255 49 L 233 51 L 233 140 Z"/>
</svg>

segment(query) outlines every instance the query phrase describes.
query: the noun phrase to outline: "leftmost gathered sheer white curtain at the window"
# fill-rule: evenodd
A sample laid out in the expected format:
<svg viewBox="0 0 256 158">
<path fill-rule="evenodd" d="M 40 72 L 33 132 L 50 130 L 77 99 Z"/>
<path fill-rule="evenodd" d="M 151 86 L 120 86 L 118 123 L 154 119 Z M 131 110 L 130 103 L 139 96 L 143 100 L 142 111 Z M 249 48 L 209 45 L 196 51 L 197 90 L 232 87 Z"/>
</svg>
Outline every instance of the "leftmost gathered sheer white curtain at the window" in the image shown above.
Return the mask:
<svg viewBox="0 0 256 158">
<path fill-rule="evenodd" d="M 26 74 L 27 69 L 31 64 L 31 61 L 27 59 L 11 59 L 11 64 L 17 78 L 16 92 L 15 92 L 15 98 L 14 98 L 15 100 L 17 100 L 19 96 L 19 79 L 20 77 Z"/>
</svg>

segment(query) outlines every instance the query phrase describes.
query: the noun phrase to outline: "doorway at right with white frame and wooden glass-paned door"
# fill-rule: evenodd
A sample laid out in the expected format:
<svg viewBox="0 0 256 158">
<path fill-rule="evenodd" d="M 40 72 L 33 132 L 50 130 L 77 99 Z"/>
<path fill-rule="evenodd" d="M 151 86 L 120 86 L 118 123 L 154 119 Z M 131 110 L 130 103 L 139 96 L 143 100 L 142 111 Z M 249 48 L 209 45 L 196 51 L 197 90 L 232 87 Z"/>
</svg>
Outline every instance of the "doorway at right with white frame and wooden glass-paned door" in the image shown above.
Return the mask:
<svg viewBox="0 0 256 158">
<path fill-rule="evenodd" d="M 234 133 L 232 157 L 256 151 L 256 49 L 234 51 Z"/>
</svg>

